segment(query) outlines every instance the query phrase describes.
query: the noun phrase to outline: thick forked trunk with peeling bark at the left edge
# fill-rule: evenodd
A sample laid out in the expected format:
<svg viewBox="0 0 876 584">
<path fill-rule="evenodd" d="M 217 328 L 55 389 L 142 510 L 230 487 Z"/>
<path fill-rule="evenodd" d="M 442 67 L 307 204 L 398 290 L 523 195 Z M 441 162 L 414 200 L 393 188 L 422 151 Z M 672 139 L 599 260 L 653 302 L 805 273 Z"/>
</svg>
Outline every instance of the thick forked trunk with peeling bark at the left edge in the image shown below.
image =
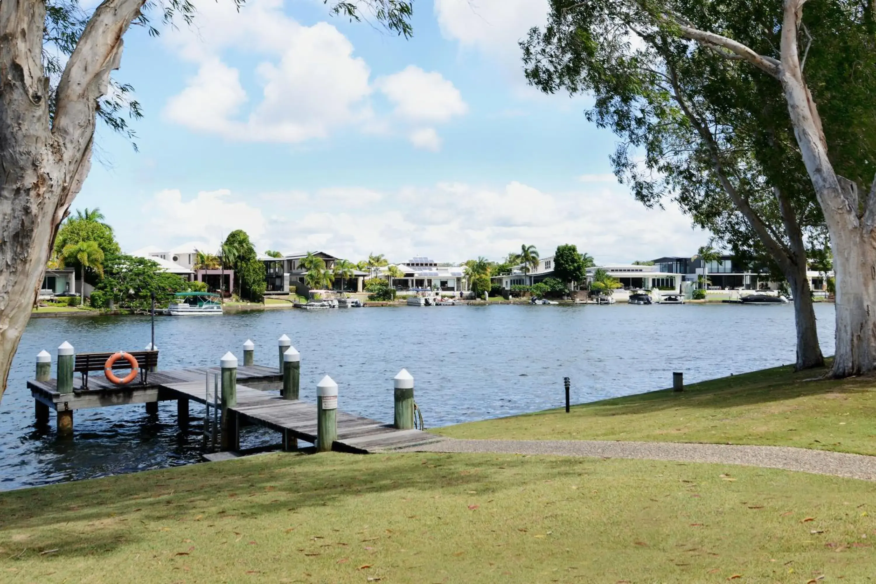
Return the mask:
<svg viewBox="0 0 876 584">
<path fill-rule="evenodd" d="M 88 175 L 97 100 L 143 4 L 106 0 L 97 7 L 67 60 L 50 125 L 46 5 L 0 2 L 0 398 L 54 236 Z"/>
</svg>

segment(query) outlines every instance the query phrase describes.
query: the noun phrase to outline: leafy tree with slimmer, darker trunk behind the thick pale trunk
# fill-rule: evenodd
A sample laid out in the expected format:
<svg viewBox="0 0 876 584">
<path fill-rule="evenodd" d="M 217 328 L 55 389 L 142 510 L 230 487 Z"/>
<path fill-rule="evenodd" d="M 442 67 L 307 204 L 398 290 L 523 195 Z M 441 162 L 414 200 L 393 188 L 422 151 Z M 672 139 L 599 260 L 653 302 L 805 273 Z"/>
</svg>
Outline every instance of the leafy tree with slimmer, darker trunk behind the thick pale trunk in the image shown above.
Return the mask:
<svg viewBox="0 0 876 584">
<path fill-rule="evenodd" d="M 827 12 L 810 25 L 830 39 L 813 49 L 810 69 L 816 79 L 831 81 L 819 86 L 832 85 L 825 91 L 835 102 L 824 120 L 844 156 L 854 158 L 856 148 L 872 151 L 876 136 L 848 119 L 850 111 L 867 117 L 859 104 L 871 98 L 858 86 L 874 82 L 873 57 L 858 35 L 852 48 L 866 81 L 837 73 L 848 70 L 835 34 L 844 18 Z M 552 0 L 548 25 L 533 29 L 521 46 L 534 85 L 595 96 L 587 115 L 623 138 L 611 162 L 639 201 L 661 206 L 675 200 L 731 248 L 752 247 L 757 237 L 753 247 L 769 254 L 794 290 L 796 364 L 806 368 L 823 363 L 806 271 L 807 247 L 823 241 L 824 222 L 786 96 L 770 75 L 749 67 L 747 57 L 680 38 L 699 25 L 736 32 L 758 48 L 779 45 L 781 15 L 781 7 L 766 0 Z M 854 108 L 836 106 L 842 87 L 849 87 Z M 868 129 L 869 117 L 862 122 Z M 854 164 L 860 166 L 859 159 Z M 837 312 L 837 330 L 840 319 Z"/>
</svg>

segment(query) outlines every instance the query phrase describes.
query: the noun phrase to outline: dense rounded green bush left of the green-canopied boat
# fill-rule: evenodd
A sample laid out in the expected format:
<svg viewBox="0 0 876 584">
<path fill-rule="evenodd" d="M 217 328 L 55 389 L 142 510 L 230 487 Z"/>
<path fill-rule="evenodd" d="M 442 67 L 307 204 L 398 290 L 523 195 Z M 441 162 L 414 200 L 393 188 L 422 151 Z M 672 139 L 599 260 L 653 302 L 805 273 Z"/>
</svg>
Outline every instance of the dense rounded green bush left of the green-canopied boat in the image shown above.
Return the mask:
<svg viewBox="0 0 876 584">
<path fill-rule="evenodd" d="M 186 290 L 187 282 L 167 273 L 145 257 L 109 256 L 103 263 L 103 279 L 97 289 L 114 299 L 120 308 L 136 312 L 149 310 L 155 293 L 156 306 L 167 306 L 173 294 Z"/>
</svg>

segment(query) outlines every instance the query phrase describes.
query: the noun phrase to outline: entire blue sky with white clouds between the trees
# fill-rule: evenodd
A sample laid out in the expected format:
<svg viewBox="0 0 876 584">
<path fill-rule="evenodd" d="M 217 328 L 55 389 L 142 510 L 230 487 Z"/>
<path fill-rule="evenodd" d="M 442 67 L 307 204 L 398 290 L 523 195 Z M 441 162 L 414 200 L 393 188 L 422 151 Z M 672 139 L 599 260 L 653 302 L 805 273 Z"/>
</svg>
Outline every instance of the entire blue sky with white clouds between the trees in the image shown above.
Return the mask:
<svg viewBox="0 0 876 584">
<path fill-rule="evenodd" d="M 125 37 L 119 81 L 145 111 L 139 152 L 98 131 L 74 208 L 100 207 L 125 250 L 215 247 L 354 261 L 690 255 L 708 236 L 611 176 L 616 143 L 586 97 L 526 86 L 517 39 L 546 0 L 418 0 L 414 36 L 331 17 L 319 0 L 198 0 L 192 27 Z"/>
</svg>

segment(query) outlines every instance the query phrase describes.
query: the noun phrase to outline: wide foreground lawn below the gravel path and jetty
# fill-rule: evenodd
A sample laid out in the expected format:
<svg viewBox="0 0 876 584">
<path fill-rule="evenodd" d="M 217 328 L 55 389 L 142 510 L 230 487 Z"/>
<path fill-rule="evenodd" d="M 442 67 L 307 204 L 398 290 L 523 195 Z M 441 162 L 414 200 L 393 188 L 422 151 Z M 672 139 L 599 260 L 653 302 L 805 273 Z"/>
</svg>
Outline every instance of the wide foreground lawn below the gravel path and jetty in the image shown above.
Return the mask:
<svg viewBox="0 0 876 584">
<path fill-rule="evenodd" d="M 759 468 L 270 454 L 0 494 L 0 580 L 861 581 L 874 514 Z"/>
</svg>

